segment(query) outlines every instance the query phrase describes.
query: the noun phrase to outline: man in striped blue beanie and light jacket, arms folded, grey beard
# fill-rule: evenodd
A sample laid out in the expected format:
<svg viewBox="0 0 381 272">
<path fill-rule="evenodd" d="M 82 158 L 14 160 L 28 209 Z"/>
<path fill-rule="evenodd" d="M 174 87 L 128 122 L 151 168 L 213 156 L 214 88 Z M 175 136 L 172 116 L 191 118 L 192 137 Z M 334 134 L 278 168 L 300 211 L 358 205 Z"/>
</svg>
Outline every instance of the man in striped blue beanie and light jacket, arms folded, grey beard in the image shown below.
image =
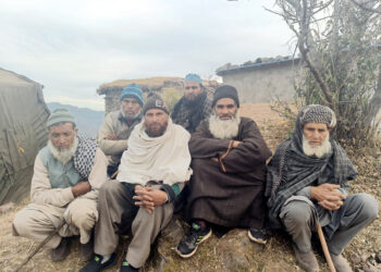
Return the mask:
<svg viewBox="0 0 381 272">
<path fill-rule="evenodd" d="M 106 116 L 98 133 L 99 147 L 109 156 L 109 176 L 118 171 L 123 151 L 127 149 L 130 134 L 143 118 L 142 88 L 135 83 L 127 85 L 122 91 L 120 101 L 121 109 Z"/>
</svg>

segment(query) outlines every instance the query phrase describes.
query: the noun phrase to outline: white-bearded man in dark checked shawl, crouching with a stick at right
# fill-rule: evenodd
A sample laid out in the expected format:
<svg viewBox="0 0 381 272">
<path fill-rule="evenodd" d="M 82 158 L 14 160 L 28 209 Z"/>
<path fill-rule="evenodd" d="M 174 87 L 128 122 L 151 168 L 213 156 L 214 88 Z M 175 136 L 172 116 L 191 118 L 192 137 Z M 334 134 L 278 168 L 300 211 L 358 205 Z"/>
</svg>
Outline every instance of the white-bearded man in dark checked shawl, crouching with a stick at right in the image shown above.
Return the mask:
<svg viewBox="0 0 381 272">
<path fill-rule="evenodd" d="M 319 271 L 311 235 L 320 222 L 337 272 L 352 271 L 342 256 L 345 246 L 378 214 L 378 202 L 368 194 L 348 195 L 348 181 L 357 176 L 343 148 L 332 137 L 334 112 L 310 104 L 300 110 L 295 131 L 283 141 L 268 165 L 269 219 L 273 228 L 285 228 L 293 239 L 299 265 Z"/>
</svg>

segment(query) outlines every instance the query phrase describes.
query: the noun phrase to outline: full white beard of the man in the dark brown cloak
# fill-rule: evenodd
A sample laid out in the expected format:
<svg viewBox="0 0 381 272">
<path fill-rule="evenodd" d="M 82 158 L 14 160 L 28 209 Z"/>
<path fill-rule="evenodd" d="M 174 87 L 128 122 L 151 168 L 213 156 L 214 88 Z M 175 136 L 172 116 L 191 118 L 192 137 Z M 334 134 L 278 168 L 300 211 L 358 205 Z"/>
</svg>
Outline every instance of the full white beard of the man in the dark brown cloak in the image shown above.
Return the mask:
<svg viewBox="0 0 381 272">
<path fill-rule="evenodd" d="M 221 120 L 216 114 L 209 118 L 209 131 L 217 139 L 232 139 L 238 135 L 241 119 L 234 115 L 231 120 Z"/>
</svg>

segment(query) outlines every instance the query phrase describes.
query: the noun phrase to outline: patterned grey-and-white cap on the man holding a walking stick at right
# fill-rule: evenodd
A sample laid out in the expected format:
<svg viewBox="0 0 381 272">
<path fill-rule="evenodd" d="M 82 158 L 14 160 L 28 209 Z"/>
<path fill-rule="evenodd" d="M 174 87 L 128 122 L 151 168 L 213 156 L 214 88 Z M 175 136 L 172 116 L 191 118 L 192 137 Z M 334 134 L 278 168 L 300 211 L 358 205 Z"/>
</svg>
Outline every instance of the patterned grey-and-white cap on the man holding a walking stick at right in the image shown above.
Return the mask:
<svg viewBox="0 0 381 272">
<path fill-rule="evenodd" d="M 327 124 L 329 128 L 336 125 L 336 115 L 327 106 L 309 104 L 303 108 L 299 112 L 300 124 L 321 123 Z"/>
</svg>

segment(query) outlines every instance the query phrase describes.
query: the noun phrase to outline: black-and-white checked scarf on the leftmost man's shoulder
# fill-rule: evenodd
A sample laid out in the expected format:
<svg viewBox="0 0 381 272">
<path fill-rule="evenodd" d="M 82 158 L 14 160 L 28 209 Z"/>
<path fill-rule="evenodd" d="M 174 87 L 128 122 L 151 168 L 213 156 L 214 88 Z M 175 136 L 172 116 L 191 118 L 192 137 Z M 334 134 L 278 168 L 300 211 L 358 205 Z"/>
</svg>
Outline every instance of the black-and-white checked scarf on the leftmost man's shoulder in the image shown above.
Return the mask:
<svg viewBox="0 0 381 272">
<path fill-rule="evenodd" d="M 90 175 L 94 158 L 97 151 L 98 144 L 96 140 L 77 136 L 78 147 L 74 154 L 74 168 L 78 171 L 81 177 L 88 181 Z"/>
</svg>

